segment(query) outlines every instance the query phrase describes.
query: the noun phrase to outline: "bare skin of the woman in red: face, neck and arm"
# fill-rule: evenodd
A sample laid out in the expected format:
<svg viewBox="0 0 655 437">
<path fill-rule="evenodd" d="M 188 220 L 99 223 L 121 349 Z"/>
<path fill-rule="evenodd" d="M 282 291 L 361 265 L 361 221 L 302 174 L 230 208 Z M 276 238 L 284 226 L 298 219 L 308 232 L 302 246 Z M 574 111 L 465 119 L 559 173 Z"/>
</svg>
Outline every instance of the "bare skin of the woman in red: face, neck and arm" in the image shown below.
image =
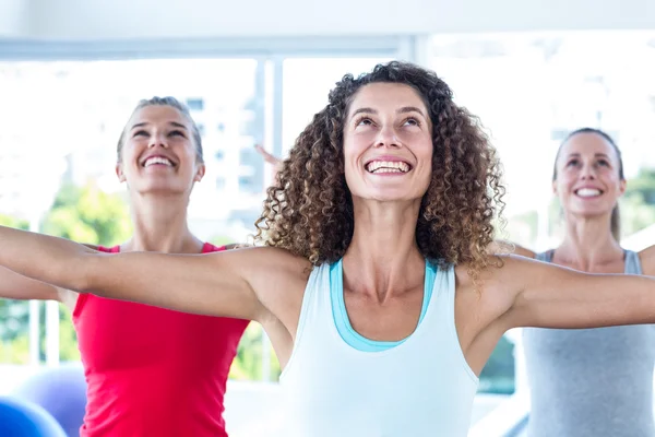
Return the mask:
<svg viewBox="0 0 655 437">
<path fill-rule="evenodd" d="M 121 252 L 202 251 L 203 243 L 190 233 L 187 225 L 189 196 L 205 172 L 191 138 L 190 121 L 170 106 L 146 106 L 136 110 L 128 121 L 122 160 L 116 164 L 116 175 L 128 185 L 134 234 L 121 246 Z M 175 166 L 145 168 L 143 161 L 152 154 L 170 158 Z M 93 245 L 86 247 L 97 248 Z M 0 268 L 0 296 L 59 300 L 72 310 L 79 294 Z"/>
</svg>

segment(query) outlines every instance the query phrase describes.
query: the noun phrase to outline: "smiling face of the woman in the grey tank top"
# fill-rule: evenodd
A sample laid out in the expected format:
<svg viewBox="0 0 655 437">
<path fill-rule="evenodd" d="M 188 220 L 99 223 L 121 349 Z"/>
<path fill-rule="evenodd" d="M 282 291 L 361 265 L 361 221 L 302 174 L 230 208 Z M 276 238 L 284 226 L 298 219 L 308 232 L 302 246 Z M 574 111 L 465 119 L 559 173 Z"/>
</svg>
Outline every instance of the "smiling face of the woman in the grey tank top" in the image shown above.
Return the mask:
<svg viewBox="0 0 655 437">
<path fill-rule="evenodd" d="M 594 132 L 576 133 L 559 151 L 552 188 L 565 212 L 610 214 L 626 191 L 622 173 L 620 157 L 607 139 Z"/>
</svg>

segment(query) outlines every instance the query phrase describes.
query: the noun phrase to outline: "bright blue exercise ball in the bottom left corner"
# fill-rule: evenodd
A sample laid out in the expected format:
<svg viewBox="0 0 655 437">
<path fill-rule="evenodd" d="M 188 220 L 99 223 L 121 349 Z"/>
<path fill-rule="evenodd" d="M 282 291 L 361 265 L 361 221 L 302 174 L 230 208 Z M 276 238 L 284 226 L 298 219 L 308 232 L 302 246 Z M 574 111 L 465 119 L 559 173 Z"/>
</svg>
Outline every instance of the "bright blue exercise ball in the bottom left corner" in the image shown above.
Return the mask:
<svg viewBox="0 0 655 437">
<path fill-rule="evenodd" d="M 0 436 L 67 437 L 43 408 L 17 398 L 0 397 Z"/>
</svg>

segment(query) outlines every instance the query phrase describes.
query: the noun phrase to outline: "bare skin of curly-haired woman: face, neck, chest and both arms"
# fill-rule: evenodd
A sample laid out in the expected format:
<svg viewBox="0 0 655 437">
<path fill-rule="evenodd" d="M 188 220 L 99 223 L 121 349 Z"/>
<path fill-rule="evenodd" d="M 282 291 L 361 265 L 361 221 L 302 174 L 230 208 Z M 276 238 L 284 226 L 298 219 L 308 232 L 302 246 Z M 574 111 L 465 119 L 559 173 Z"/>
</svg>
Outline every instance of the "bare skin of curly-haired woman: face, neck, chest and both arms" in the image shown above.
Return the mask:
<svg viewBox="0 0 655 437">
<path fill-rule="evenodd" d="M 343 259 L 344 296 L 355 330 L 373 340 L 405 338 L 418 322 L 425 260 L 415 228 L 431 174 L 427 114 L 412 87 L 377 83 L 357 93 L 346 115 L 345 177 L 355 229 Z M 365 165 L 383 155 L 402 158 L 412 169 L 392 176 L 367 172 Z M 306 259 L 272 247 L 202 256 L 98 253 L 10 228 L 0 228 L 0 264 L 29 277 L 188 312 L 257 320 L 281 365 L 288 362 L 311 267 Z M 480 272 L 477 285 L 466 264 L 455 268 L 455 326 L 476 374 L 511 328 L 655 321 L 654 279 L 587 274 L 516 256 L 499 260 L 502 267 Z"/>
</svg>

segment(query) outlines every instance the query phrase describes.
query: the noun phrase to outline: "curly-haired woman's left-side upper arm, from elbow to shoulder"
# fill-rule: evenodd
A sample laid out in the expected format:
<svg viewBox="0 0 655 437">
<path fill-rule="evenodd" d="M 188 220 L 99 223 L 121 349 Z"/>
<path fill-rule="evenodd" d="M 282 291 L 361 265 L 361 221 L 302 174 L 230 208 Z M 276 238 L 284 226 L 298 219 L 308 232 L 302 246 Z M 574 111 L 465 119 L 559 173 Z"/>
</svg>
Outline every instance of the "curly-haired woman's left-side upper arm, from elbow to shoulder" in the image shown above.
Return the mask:
<svg viewBox="0 0 655 437">
<path fill-rule="evenodd" d="M 88 253 L 83 291 L 184 312 L 261 320 L 266 294 L 284 291 L 299 263 L 274 248 L 204 255 Z"/>
</svg>

